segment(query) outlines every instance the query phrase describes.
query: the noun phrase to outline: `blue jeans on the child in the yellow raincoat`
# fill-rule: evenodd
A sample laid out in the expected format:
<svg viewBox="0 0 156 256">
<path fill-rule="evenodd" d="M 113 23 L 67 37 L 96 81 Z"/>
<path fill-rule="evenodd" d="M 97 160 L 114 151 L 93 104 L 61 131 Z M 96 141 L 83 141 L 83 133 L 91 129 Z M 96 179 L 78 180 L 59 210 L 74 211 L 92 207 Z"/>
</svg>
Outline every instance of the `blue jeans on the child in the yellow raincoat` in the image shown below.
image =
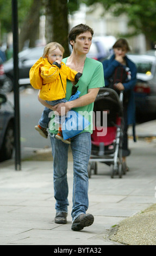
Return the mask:
<svg viewBox="0 0 156 256">
<path fill-rule="evenodd" d="M 57 105 L 58 103 L 61 103 L 61 102 L 66 102 L 67 100 L 66 99 L 60 99 L 60 100 L 52 100 L 52 101 L 48 101 L 46 100 L 46 102 L 51 105 L 51 106 L 55 106 Z M 49 121 L 50 121 L 50 118 L 49 118 L 49 113 L 52 112 L 52 109 L 49 109 L 47 107 L 45 107 L 43 109 L 43 112 L 42 112 L 42 115 L 41 115 L 41 118 L 39 120 L 39 125 L 43 128 L 48 128 L 48 124 L 49 124 Z"/>
</svg>

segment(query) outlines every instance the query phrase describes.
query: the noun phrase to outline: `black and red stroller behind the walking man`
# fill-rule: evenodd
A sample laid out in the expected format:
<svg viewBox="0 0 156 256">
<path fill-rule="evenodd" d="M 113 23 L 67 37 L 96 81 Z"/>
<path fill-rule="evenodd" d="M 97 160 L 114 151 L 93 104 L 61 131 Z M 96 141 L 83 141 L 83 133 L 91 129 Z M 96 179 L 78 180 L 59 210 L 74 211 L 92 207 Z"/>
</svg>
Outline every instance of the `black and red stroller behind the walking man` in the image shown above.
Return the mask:
<svg viewBox="0 0 156 256">
<path fill-rule="evenodd" d="M 126 170 L 122 164 L 122 102 L 123 92 L 118 95 L 114 89 L 99 89 L 93 108 L 91 156 L 88 164 L 89 178 L 91 178 L 92 170 L 97 174 L 97 162 L 102 162 L 110 166 L 111 178 L 114 178 L 114 175 L 122 178 L 122 174 L 126 174 Z"/>
</svg>

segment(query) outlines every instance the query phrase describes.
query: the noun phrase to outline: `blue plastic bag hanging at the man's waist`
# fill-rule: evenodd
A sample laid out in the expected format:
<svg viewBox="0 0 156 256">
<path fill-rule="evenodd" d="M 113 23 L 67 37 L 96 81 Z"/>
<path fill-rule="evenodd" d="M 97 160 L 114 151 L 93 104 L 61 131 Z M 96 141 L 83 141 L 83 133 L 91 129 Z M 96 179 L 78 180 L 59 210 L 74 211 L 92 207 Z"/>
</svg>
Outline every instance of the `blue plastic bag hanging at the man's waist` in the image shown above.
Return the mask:
<svg viewBox="0 0 156 256">
<path fill-rule="evenodd" d="M 68 111 L 62 126 L 64 139 L 72 138 L 82 132 L 90 122 L 76 111 Z"/>
</svg>

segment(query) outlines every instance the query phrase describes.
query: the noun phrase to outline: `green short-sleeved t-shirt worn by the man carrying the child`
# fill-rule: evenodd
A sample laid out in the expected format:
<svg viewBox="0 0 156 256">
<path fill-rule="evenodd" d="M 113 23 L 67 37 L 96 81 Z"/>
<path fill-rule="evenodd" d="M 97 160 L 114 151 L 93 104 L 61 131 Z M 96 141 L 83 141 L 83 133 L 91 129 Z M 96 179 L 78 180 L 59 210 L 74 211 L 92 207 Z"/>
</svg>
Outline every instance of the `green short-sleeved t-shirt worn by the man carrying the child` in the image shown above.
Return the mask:
<svg viewBox="0 0 156 256">
<path fill-rule="evenodd" d="M 67 58 L 63 59 L 63 62 L 66 64 Z M 83 96 L 88 93 L 89 89 L 92 88 L 100 88 L 104 87 L 104 73 L 103 73 L 103 65 L 101 62 L 98 62 L 95 59 L 86 58 L 83 75 L 80 77 L 78 83 L 78 90 L 80 92 L 80 96 Z M 66 100 L 69 100 L 72 94 L 72 83 L 67 80 L 67 88 L 66 88 Z M 78 112 L 83 115 L 84 118 L 88 119 L 90 125 L 86 127 L 82 132 L 90 132 L 92 133 L 92 115 L 93 115 L 93 102 L 89 105 L 83 107 L 73 108 L 72 110 Z M 54 119 L 52 118 L 49 122 L 49 132 L 57 133 L 57 130 L 54 129 Z"/>
</svg>

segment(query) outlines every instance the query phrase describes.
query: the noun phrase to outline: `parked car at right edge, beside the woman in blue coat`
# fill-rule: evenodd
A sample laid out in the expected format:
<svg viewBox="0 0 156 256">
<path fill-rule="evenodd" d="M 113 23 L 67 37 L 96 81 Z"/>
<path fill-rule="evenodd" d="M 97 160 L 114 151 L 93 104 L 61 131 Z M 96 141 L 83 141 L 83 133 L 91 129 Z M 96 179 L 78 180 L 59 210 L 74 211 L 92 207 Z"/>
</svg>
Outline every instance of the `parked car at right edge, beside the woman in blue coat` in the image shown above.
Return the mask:
<svg viewBox="0 0 156 256">
<path fill-rule="evenodd" d="M 129 54 L 137 66 L 137 82 L 134 88 L 136 114 L 156 118 L 156 57 Z"/>
</svg>

